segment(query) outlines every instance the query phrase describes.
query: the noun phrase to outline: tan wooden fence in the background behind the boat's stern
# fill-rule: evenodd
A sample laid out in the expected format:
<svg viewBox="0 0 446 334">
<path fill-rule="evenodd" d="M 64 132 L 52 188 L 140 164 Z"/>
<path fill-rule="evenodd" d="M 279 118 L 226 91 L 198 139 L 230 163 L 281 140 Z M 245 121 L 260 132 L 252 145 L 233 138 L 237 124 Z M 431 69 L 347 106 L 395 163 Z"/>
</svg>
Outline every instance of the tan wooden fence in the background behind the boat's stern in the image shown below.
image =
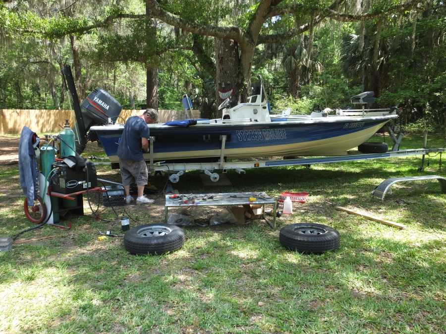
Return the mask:
<svg viewBox="0 0 446 334">
<path fill-rule="evenodd" d="M 123 123 L 130 116 L 141 115 L 143 110 L 122 110 L 117 123 Z M 193 117 L 199 118 L 200 111 L 192 110 Z M 184 111 L 159 110 L 159 123 L 171 120 L 184 119 Z M 61 130 L 65 120 L 68 119 L 74 126 L 73 110 L 29 110 L 29 109 L 0 109 L 0 135 L 20 134 L 24 126 L 38 134 L 56 133 Z"/>
</svg>

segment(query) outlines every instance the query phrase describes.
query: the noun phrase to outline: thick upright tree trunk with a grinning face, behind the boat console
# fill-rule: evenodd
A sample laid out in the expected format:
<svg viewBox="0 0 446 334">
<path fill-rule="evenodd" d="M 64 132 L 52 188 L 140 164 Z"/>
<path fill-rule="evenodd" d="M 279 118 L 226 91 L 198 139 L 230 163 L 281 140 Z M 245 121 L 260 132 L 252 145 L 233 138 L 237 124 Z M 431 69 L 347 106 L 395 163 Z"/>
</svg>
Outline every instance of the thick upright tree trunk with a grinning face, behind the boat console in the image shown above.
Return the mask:
<svg viewBox="0 0 446 334">
<path fill-rule="evenodd" d="M 216 58 L 216 98 L 217 105 L 227 97 L 230 98 L 231 106 L 240 102 L 240 57 L 238 54 L 238 43 L 232 40 L 215 39 Z M 220 112 L 220 111 L 217 111 Z M 221 115 L 217 115 L 221 117 Z"/>
</svg>

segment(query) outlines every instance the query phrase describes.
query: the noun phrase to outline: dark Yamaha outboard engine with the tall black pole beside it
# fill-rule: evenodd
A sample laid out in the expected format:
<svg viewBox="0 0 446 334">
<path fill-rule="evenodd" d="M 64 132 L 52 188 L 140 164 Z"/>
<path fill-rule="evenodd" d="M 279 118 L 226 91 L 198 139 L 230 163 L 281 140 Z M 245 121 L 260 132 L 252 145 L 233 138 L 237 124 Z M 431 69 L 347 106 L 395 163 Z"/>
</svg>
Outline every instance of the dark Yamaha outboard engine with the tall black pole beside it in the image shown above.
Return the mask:
<svg viewBox="0 0 446 334">
<path fill-rule="evenodd" d="M 70 66 L 65 65 L 62 74 L 73 100 L 73 108 L 76 115 L 76 124 L 73 131 L 76 141 L 76 152 L 80 154 L 85 149 L 87 141 L 95 142 L 98 140 L 96 135 L 89 134 L 88 130 L 90 130 L 90 127 L 108 124 L 109 118 L 111 123 L 114 124 L 122 110 L 122 106 L 113 96 L 101 88 L 95 89 L 79 105 L 79 98 L 74 86 Z"/>
</svg>

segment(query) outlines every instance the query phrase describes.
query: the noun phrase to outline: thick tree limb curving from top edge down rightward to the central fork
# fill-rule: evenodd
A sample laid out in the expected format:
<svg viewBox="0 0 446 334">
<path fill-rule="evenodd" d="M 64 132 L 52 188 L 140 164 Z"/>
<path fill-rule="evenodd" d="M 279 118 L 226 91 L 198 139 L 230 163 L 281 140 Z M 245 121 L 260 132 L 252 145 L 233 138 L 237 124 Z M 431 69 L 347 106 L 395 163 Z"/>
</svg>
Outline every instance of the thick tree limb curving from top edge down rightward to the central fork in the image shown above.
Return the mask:
<svg viewBox="0 0 446 334">
<path fill-rule="evenodd" d="M 185 31 L 202 36 L 214 36 L 217 38 L 231 39 L 237 42 L 242 40 L 242 32 L 238 27 L 218 27 L 187 22 L 161 8 L 156 0 L 147 0 L 146 6 L 150 6 L 152 17 L 158 18 L 171 26 L 179 27 Z"/>
</svg>

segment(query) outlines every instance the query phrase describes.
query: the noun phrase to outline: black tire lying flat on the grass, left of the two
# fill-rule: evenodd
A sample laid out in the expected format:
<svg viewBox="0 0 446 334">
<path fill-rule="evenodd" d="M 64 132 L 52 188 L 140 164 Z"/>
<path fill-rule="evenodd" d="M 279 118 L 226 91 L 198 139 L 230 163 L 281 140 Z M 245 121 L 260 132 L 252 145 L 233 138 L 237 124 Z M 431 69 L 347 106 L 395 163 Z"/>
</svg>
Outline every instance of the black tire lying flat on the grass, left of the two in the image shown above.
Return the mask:
<svg viewBox="0 0 446 334">
<path fill-rule="evenodd" d="M 164 254 L 183 246 L 184 231 L 174 225 L 146 224 L 128 230 L 124 247 L 131 254 Z"/>
</svg>

